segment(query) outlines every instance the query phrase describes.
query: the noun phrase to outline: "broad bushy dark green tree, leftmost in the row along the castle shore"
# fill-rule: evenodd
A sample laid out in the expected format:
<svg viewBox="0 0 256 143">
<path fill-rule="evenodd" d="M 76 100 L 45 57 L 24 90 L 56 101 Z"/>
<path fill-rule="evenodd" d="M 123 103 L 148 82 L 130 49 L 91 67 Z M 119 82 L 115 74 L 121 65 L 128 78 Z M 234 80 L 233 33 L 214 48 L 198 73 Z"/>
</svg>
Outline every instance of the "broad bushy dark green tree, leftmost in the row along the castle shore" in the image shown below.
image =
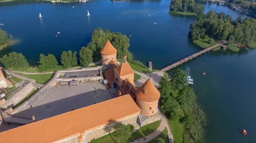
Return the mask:
<svg viewBox="0 0 256 143">
<path fill-rule="evenodd" d="M 11 52 L 7 55 L 4 55 L 0 58 L 0 62 L 4 64 L 5 67 L 13 67 L 18 69 L 20 67 L 29 67 L 29 63 L 25 59 L 22 53 Z"/>
</svg>

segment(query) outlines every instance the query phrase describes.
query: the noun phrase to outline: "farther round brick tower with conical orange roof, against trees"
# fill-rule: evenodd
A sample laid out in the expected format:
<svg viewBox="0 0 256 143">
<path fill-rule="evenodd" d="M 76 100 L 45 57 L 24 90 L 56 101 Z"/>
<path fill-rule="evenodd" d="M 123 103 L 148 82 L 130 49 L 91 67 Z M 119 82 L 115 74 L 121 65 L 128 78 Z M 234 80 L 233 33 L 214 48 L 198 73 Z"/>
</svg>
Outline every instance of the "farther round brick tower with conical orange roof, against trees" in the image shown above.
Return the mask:
<svg viewBox="0 0 256 143">
<path fill-rule="evenodd" d="M 111 60 L 116 63 L 116 52 L 117 50 L 113 47 L 110 41 L 100 51 L 102 55 L 102 65 L 108 64 Z"/>
</svg>

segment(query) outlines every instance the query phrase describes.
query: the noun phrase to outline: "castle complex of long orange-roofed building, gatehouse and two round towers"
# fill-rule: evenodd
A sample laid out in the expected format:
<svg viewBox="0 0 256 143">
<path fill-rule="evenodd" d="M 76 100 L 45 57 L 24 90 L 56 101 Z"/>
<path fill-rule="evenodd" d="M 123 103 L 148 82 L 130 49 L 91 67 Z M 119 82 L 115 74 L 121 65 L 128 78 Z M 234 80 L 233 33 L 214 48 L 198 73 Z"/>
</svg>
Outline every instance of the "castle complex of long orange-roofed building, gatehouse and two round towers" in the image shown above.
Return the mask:
<svg viewBox="0 0 256 143">
<path fill-rule="evenodd" d="M 1 143 L 88 143 L 113 132 L 117 121 L 140 127 L 160 120 L 159 91 L 151 79 L 136 89 L 134 71 L 128 62 L 117 65 L 116 52 L 109 41 L 101 50 L 105 77 L 109 87 L 117 89 L 116 98 L 1 132 Z"/>
</svg>

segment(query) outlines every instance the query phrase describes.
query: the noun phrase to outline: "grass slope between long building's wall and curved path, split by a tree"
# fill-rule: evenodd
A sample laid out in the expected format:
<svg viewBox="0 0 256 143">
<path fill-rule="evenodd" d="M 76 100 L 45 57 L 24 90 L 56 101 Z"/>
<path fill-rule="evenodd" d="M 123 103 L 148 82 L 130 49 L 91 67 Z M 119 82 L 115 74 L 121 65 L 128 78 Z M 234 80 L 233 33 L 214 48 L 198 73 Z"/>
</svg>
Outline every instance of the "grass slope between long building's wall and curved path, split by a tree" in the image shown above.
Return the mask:
<svg viewBox="0 0 256 143">
<path fill-rule="evenodd" d="M 132 137 L 130 140 L 134 140 L 137 138 L 141 138 L 144 135 L 149 135 L 154 132 L 159 126 L 161 121 L 155 121 L 148 125 L 142 126 L 139 130 L 132 133 Z M 105 135 L 103 137 L 99 137 L 96 140 L 90 141 L 90 143 L 118 143 L 118 138 L 114 137 L 112 133 Z"/>
</svg>

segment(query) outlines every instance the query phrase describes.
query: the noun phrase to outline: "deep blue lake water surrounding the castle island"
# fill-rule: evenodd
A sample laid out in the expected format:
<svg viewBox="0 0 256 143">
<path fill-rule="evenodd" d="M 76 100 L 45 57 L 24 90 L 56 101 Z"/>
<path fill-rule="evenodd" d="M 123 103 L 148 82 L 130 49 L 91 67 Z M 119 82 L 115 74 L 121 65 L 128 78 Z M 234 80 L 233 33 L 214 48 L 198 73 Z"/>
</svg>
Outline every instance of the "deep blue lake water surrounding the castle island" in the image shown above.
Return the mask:
<svg viewBox="0 0 256 143">
<path fill-rule="evenodd" d="M 17 43 L 0 51 L 23 53 L 36 64 L 40 53 L 58 59 L 64 50 L 77 50 L 90 42 L 97 27 L 132 35 L 129 50 L 134 59 L 161 69 L 201 50 L 188 38 L 195 17 L 169 14 L 169 0 L 122 1 L 95 0 L 87 3 L 33 3 L 0 6 L 3 30 L 14 35 Z M 206 12 L 225 12 L 233 18 L 246 15 L 216 3 L 201 2 Z M 72 8 L 75 6 L 75 8 Z M 91 16 L 87 17 L 87 10 Z M 39 19 L 39 12 L 43 18 Z M 150 14 L 150 17 L 148 16 Z M 153 25 L 157 22 L 156 25 Z M 173 29 L 176 30 L 173 30 Z M 60 31 L 58 37 L 56 33 Z M 195 93 L 209 118 L 207 143 L 256 142 L 256 50 L 239 53 L 210 52 L 177 68 L 190 67 Z M 173 70 L 169 71 L 170 73 Z M 205 72 L 206 75 L 202 75 Z M 242 135 L 246 129 L 247 136 Z"/>
</svg>

